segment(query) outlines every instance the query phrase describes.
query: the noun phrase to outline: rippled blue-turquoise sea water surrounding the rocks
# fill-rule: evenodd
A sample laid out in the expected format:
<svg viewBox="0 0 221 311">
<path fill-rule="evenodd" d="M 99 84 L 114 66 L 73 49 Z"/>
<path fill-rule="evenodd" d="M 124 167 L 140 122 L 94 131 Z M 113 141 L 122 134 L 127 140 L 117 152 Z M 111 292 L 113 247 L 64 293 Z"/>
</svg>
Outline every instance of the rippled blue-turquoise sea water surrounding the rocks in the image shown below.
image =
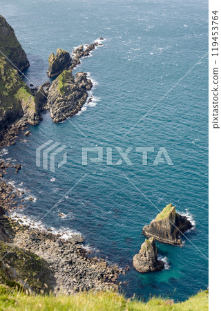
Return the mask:
<svg viewBox="0 0 221 311">
<path fill-rule="evenodd" d="M 23 164 L 6 179 L 30 189 L 24 214 L 39 219 L 87 174 L 42 220 L 47 227 L 64 227 L 84 235 L 94 254 L 131 269 L 121 276 L 121 290 L 147 299 L 149 294 L 186 299 L 208 285 L 208 135 L 207 71 L 204 57 L 164 99 L 136 124 L 207 50 L 207 2 L 196 1 L 1 1 L 1 15 L 15 29 L 26 50 L 28 79 L 48 80 L 48 56 L 57 48 L 71 52 L 79 44 L 104 37 L 74 72 L 89 72 L 97 82 L 95 101 L 86 111 L 53 124 L 44 115 L 32 127 L 27 142 L 8 148 L 3 158 Z M 81 130 L 84 135 L 76 129 Z M 55 173 L 35 165 L 35 149 L 48 140 L 65 144 L 68 162 Z M 132 147 L 132 166 L 106 162 L 81 165 L 82 147 Z M 148 165 L 135 147 L 153 147 Z M 173 166 L 153 161 L 165 147 Z M 96 156 L 94 154 L 94 156 Z M 126 177 L 133 182 L 135 187 Z M 55 178 L 51 182 L 51 178 Z M 21 182 L 23 184 L 21 185 Z M 20 186 L 19 186 L 20 185 Z M 136 188 L 137 187 L 137 188 Z M 133 270 L 132 258 L 144 242 L 142 227 L 157 209 L 172 202 L 189 214 L 195 229 L 184 246 L 157 243 L 169 269 L 151 274 Z M 27 194 L 28 195 L 28 194 Z M 67 215 L 59 218 L 58 211 Z M 192 244 L 193 243 L 193 244 Z M 195 245 L 195 246 L 194 246 Z M 201 253 L 202 252 L 202 253 Z"/>
</svg>

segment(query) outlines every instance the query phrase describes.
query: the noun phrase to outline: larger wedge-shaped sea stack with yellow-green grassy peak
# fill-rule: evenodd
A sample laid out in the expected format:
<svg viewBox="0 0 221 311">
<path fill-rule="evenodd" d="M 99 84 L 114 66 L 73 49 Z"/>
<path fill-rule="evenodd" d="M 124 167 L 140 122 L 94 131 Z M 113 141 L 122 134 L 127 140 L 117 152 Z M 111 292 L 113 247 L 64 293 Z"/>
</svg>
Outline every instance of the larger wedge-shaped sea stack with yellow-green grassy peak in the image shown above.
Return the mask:
<svg viewBox="0 0 221 311">
<path fill-rule="evenodd" d="M 180 234 L 193 225 L 185 217 L 175 212 L 175 207 L 172 204 L 166 205 L 155 220 L 151 221 L 150 225 L 145 225 L 143 234 L 147 238 L 153 236 L 157 241 L 172 245 L 182 245 Z"/>
</svg>

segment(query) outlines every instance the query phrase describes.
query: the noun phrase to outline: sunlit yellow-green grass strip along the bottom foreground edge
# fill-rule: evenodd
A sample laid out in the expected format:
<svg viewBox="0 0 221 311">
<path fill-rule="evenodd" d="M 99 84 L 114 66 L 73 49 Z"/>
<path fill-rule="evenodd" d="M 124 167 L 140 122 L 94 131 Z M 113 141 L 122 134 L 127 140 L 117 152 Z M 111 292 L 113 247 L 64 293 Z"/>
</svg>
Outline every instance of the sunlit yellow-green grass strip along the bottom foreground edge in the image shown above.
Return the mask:
<svg viewBox="0 0 221 311">
<path fill-rule="evenodd" d="M 86 311 L 132 311 L 132 310 L 208 310 L 208 292 L 199 292 L 187 301 L 151 298 L 147 303 L 126 299 L 116 292 L 82 292 L 73 296 L 33 295 L 0 285 L 0 310 L 86 310 Z"/>
</svg>

